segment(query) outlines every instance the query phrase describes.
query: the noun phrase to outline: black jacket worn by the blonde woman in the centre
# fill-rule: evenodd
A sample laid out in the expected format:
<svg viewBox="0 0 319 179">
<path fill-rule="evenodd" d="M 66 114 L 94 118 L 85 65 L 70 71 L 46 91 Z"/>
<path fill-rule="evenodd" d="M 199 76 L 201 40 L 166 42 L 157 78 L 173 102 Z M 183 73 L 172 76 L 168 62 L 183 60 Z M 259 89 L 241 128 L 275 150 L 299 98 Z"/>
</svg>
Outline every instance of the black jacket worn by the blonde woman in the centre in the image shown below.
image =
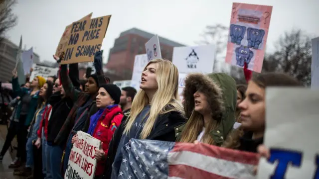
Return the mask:
<svg viewBox="0 0 319 179">
<path fill-rule="evenodd" d="M 112 165 L 129 115 L 130 111 L 124 113 L 121 125 L 113 134 L 113 138 L 109 145 L 103 179 L 111 179 Z M 176 137 L 174 128 L 184 124 L 186 122 L 186 118 L 176 111 L 170 111 L 166 114 L 160 115 L 159 118 L 160 120 L 157 120 L 154 124 L 154 128 L 157 130 L 152 131 L 147 139 L 175 142 Z"/>
</svg>

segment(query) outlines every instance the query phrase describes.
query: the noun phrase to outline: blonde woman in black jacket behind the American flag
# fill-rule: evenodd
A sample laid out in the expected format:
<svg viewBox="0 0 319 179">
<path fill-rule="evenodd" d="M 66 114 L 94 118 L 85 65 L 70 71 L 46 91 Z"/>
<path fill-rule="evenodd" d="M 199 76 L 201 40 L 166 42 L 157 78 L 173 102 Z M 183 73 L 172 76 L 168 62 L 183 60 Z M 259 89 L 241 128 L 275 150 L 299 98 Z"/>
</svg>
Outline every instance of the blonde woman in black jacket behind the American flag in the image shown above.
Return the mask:
<svg viewBox="0 0 319 179">
<path fill-rule="evenodd" d="M 118 177 L 122 162 L 121 149 L 130 139 L 175 141 L 174 127 L 186 120 L 179 103 L 178 70 L 170 61 L 151 60 L 142 73 L 140 88 L 133 100 L 127 123 L 117 129 L 124 130 L 123 133 L 113 138 L 114 144 L 118 144 L 117 150 L 109 154 L 107 159 L 115 155 L 112 179 Z"/>
</svg>

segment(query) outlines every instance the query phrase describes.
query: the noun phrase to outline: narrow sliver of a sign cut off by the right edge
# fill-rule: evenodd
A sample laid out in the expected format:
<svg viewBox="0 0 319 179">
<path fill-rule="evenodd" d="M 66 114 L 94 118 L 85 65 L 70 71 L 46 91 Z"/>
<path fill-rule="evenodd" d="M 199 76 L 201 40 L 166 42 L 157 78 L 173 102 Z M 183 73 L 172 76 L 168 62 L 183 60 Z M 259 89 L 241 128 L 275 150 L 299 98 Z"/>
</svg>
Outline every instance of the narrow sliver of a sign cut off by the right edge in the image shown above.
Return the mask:
<svg viewBox="0 0 319 179">
<path fill-rule="evenodd" d="M 319 88 L 319 37 L 312 39 L 311 88 Z"/>
</svg>

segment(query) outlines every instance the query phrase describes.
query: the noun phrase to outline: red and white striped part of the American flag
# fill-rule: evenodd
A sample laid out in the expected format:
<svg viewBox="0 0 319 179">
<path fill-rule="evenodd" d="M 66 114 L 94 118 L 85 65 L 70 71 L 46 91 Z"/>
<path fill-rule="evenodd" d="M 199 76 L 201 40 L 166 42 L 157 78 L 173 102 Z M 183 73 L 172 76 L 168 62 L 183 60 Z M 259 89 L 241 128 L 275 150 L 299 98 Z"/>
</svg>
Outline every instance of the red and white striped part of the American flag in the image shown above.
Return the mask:
<svg viewBox="0 0 319 179">
<path fill-rule="evenodd" d="M 257 154 L 208 144 L 176 143 L 168 153 L 168 179 L 255 179 Z"/>
</svg>

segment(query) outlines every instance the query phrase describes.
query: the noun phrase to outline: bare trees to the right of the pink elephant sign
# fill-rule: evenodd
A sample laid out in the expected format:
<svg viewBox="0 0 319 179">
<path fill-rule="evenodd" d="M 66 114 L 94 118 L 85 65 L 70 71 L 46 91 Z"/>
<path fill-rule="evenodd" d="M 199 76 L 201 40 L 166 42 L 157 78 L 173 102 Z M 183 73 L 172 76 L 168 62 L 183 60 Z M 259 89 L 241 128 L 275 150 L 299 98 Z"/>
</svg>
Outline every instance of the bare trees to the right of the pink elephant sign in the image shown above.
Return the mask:
<svg viewBox="0 0 319 179">
<path fill-rule="evenodd" d="M 311 83 L 311 37 L 302 30 L 285 32 L 263 64 L 263 72 L 284 72 L 309 86 Z"/>
</svg>

